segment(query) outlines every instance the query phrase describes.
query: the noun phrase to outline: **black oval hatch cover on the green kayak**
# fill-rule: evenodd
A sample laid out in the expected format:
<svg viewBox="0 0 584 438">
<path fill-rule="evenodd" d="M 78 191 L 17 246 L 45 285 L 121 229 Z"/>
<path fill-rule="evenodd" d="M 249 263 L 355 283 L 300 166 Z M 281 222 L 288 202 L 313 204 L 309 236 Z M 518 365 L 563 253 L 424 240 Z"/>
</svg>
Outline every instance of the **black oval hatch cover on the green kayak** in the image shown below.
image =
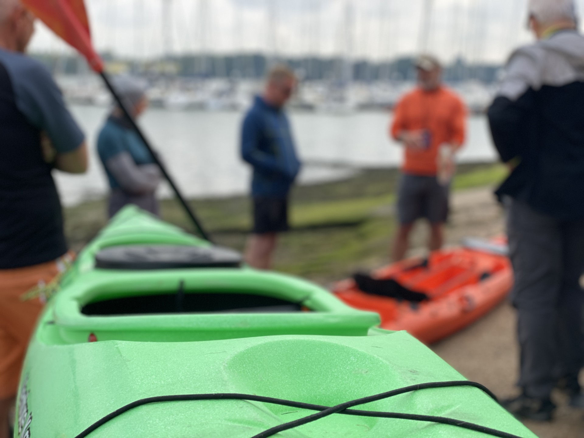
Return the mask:
<svg viewBox="0 0 584 438">
<path fill-rule="evenodd" d="M 232 249 L 211 246 L 127 245 L 102 249 L 95 257 L 100 269 L 184 269 L 239 267 L 241 255 Z"/>
</svg>

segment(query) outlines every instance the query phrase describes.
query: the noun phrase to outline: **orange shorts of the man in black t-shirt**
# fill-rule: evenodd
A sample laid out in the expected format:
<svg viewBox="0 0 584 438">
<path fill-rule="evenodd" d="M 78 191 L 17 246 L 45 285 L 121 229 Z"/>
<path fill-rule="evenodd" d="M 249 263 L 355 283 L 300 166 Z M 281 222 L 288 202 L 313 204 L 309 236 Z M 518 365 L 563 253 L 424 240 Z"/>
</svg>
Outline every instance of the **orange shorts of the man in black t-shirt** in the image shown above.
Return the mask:
<svg viewBox="0 0 584 438">
<path fill-rule="evenodd" d="M 70 256 L 70 255 L 68 255 Z M 43 303 L 23 294 L 49 283 L 64 269 L 60 260 L 19 269 L 0 269 L 0 399 L 16 395 L 20 368 Z"/>
</svg>

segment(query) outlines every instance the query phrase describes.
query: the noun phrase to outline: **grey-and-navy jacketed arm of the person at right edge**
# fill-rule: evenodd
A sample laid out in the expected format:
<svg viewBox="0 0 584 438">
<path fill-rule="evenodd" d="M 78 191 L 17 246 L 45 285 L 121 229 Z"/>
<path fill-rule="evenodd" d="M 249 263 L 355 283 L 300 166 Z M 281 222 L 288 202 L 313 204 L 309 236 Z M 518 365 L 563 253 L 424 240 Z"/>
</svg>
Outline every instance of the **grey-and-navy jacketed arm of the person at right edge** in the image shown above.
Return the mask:
<svg viewBox="0 0 584 438">
<path fill-rule="evenodd" d="M 538 83 L 537 58 L 529 50 L 513 54 L 500 90 L 488 110 L 489 125 L 501 160 L 515 166 L 526 152 L 524 128 L 533 113 Z"/>
</svg>

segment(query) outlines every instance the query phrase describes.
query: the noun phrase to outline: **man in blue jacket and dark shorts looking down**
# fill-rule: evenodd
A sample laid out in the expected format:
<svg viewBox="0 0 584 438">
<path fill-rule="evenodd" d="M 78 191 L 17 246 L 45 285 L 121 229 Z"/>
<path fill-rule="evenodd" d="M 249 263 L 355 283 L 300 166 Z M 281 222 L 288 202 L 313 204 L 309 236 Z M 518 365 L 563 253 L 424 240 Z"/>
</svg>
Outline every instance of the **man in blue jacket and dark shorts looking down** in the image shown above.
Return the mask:
<svg viewBox="0 0 584 438">
<path fill-rule="evenodd" d="M 256 96 L 241 128 L 241 158 L 253 172 L 253 230 L 245 260 L 256 269 L 270 269 L 278 234 L 290 229 L 290 190 L 301 162 L 284 106 L 296 85 L 290 68 L 274 65 L 267 73 L 262 96 Z"/>
</svg>

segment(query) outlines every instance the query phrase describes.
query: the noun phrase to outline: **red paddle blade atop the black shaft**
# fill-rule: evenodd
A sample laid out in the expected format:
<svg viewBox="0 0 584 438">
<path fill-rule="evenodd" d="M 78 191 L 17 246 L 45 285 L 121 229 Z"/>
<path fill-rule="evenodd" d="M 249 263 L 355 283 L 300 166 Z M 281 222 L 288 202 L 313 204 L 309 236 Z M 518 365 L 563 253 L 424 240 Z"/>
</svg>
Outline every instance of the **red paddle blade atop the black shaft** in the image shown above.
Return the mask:
<svg viewBox="0 0 584 438">
<path fill-rule="evenodd" d="M 103 61 L 93 49 L 84 0 L 22 0 L 54 33 L 84 55 L 93 70 L 103 71 Z"/>
</svg>

